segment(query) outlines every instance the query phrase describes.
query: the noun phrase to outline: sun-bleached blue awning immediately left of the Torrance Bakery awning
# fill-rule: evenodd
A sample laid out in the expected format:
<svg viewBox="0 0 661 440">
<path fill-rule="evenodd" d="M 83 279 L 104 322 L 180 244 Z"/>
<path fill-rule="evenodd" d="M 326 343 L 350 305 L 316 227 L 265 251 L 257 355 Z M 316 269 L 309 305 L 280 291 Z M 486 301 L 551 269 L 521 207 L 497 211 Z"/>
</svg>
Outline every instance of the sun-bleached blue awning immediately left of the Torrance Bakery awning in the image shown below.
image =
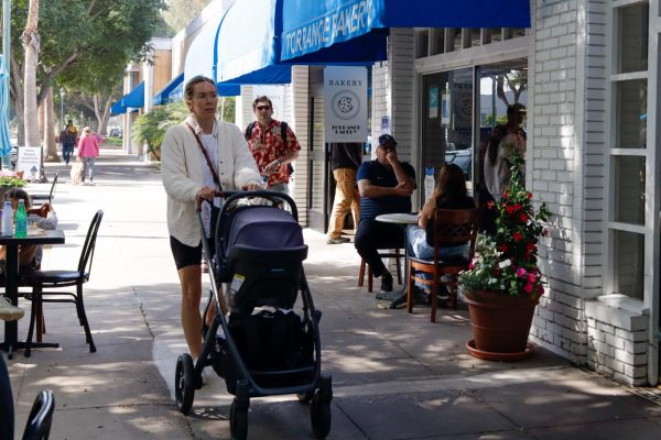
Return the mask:
<svg viewBox="0 0 661 440">
<path fill-rule="evenodd" d="M 215 41 L 216 80 L 288 84 L 291 66 L 280 65 L 282 0 L 237 0 L 220 21 Z"/>
</svg>

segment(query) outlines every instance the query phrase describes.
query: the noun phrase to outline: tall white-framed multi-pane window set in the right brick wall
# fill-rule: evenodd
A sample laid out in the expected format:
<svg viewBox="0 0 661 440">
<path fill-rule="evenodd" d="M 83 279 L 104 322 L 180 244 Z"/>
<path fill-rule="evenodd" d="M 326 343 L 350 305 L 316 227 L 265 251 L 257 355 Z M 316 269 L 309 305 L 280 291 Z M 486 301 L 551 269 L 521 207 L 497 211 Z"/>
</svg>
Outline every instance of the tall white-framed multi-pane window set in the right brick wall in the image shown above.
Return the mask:
<svg viewBox="0 0 661 440">
<path fill-rule="evenodd" d="M 607 191 L 608 283 L 606 293 L 644 299 L 644 274 L 651 270 L 644 249 L 652 237 L 647 194 L 648 166 L 653 148 L 647 148 L 649 3 L 615 7 L 613 29 L 616 48 L 611 63 Z M 653 127 L 653 125 L 652 125 Z"/>
</svg>

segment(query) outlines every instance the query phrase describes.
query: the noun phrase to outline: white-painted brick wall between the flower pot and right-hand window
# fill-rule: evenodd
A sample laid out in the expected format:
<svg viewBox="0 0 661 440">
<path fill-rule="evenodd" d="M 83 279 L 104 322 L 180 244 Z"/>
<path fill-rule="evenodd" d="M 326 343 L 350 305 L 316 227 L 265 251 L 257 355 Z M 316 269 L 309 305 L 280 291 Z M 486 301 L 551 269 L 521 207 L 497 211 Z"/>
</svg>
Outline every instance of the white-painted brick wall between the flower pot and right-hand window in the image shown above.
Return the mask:
<svg viewBox="0 0 661 440">
<path fill-rule="evenodd" d="M 608 7 L 605 0 L 533 1 L 528 185 L 553 217 L 540 249 L 549 293 L 531 336 L 639 385 L 647 317 L 593 300 L 603 293 Z"/>
</svg>

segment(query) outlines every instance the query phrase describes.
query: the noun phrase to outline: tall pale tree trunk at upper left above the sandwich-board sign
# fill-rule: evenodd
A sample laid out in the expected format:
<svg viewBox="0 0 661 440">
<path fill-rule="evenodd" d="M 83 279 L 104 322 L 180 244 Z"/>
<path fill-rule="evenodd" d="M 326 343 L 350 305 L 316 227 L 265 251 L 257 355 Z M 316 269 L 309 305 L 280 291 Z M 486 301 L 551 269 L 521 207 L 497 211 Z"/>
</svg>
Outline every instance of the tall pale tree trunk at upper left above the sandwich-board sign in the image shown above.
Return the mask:
<svg viewBox="0 0 661 440">
<path fill-rule="evenodd" d="M 28 23 L 21 36 L 25 50 L 25 74 L 24 74 L 24 109 L 25 118 L 25 145 L 39 146 L 39 121 L 36 109 L 36 63 L 39 58 L 39 0 L 30 0 L 28 10 Z"/>
</svg>

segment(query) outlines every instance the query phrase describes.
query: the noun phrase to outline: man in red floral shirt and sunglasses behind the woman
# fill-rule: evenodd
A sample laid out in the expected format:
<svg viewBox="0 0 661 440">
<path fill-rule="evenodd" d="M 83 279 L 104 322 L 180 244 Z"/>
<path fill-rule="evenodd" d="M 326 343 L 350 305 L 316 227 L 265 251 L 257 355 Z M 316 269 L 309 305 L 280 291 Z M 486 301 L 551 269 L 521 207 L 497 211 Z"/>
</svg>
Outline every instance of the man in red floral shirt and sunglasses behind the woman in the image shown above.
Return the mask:
<svg viewBox="0 0 661 440">
<path fill-rule="evenodd" d="M 252 102 L 252 111 L 257 123 L 248 125 L 246 138 L 257 167 L 264 179 L 268 178 L 267 189 L 288 194 L 290 179 L 288 165 L 299 157 L 301 145 L 289 127 L 286 127 L 286 139 L 283 139 L 282 122 L 271 118 L 273 103 L 268 97 L 258 97 Z"/>
</svg>

